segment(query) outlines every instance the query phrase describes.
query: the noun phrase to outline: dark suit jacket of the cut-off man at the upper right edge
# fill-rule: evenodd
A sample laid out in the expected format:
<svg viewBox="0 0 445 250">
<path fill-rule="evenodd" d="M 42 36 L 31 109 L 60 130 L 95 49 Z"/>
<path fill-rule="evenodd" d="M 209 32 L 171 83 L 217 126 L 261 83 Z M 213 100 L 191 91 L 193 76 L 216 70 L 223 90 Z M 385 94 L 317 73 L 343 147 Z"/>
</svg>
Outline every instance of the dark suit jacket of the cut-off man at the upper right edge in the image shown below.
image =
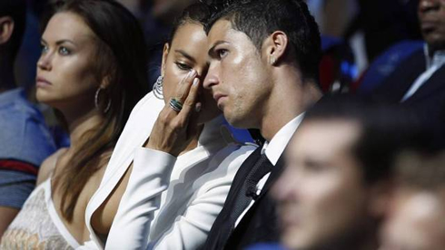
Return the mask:
<svg viewBox="0 0 445 250">
<path fill-rule="evenodd" d="M 380 101 L 399 103 L 410 86 L 426 70 L 423 50 L 413 53 L 373 91 Z M 414 113 L 427 128 L 435 130 L 443 139 L 445 125 L 445 65 L 434 72 L 420 89 L 401 103 Z M 440 143 L 441 144 L 441 143 Z"/>
</svg>

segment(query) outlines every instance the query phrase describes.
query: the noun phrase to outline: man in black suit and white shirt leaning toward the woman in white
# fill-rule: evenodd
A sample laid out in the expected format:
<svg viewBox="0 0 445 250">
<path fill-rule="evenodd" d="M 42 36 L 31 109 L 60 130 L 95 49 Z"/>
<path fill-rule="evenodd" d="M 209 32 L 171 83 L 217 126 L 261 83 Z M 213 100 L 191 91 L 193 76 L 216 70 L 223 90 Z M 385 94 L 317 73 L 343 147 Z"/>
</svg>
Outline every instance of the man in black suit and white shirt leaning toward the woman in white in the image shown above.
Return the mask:
<svg viewBox="0 0 445 250">
<path fill-rule="evenodd" d="M 320 32 L 300 0 L 238 1 L 207 30 L 211 64 L 204 88 L 233 126 L 258 129 L 266 142 L 242 164 L 203 249 L 276 241 L 268 191 L 303 112 L 321 98 Z"/>
</svg>

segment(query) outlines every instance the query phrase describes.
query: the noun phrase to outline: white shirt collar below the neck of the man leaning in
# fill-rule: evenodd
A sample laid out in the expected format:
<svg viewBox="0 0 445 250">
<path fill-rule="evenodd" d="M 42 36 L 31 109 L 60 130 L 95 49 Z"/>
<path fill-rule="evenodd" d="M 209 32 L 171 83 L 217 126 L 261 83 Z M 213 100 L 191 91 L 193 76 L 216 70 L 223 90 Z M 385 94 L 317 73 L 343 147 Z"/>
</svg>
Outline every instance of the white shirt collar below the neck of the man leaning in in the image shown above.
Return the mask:
<svg viewBox="0 0 445 250">
<path fill-rule="evenodd" d="M 303 116 L 304 113 L 301 113 L 284 125 L 282 129 L 278 130 L 271 141 L 264 142 L 264 145 L 262 146 L 262 154 L 266 154 L 267 159 L 272 162 L 273 166 L 277 164 L 278 159 L 280 159 L 282 156 L 282 151 L 286 149 L 286 146 L 289 143 L 289 140 L 291 140 L 293 133 L 295 130 L 297 130 L 298 126 L 302 122 Z"/>
</svg>

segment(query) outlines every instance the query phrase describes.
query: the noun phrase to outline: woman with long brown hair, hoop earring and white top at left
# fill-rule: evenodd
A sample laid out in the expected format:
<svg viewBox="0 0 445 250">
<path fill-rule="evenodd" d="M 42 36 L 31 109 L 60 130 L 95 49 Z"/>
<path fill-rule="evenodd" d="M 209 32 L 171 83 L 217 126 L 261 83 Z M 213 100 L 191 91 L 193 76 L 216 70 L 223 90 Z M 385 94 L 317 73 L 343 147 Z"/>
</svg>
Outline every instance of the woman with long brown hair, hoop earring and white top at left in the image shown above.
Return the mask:
<svg viewBox="0 0 445 250">
<path fill-rule="evenodd" d="M 60 113 L 71 145 L 44 160 L 39 186 L 0 248 L 72 249 L 89 239 L 85 207 L 130 111 L 147 92 L 143 33 L 124 6 L 66 0 L 52 7 L 44 19 L 36 98 Z"/>
</svg>

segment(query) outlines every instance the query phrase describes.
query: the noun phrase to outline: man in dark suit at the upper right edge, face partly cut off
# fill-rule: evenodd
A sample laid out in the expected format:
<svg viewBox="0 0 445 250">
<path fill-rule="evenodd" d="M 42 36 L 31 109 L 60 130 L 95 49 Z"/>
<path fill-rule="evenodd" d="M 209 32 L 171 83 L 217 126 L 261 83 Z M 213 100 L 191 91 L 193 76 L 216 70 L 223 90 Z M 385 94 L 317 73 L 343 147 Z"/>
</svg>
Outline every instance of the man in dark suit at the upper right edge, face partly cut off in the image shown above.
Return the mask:
<svg viewBox="0 0 445 250">
<path fill-rule="evenodd" d="M 383 101 L 401 102 L 430 128 L 445 125 L 445 2 L 420 0 L 424 51 L 413 53 L 373 91 Z M 442 134 L 443 135 L 443 134 Z"/>
</svg>

